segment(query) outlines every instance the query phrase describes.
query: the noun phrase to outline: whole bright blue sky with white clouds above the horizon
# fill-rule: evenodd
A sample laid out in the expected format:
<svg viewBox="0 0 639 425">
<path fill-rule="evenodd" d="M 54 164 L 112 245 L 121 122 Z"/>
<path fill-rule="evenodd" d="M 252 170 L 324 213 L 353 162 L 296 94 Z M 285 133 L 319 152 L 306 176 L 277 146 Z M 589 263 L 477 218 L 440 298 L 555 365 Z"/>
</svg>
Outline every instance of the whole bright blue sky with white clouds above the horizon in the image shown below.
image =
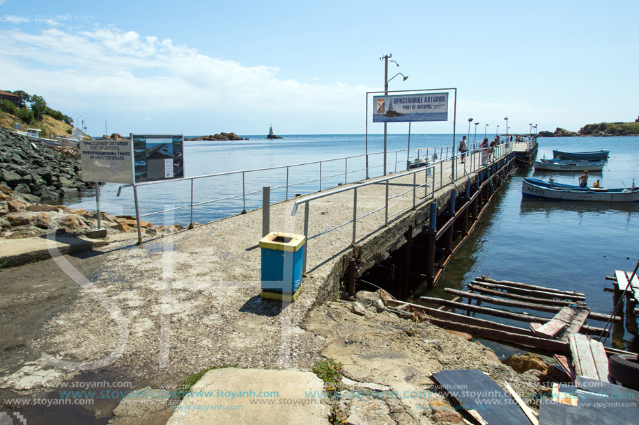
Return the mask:
<svg viewBox="0 0 639 425">
<path fill-rule="evenodd" d="M 636 0 L 0 0 L 0 90 L 94 136 L 379 134 L 391 54 L 389 90 L 457 89 L 413 133 L 577 131 L 638 118 L 638 21 Z"/>
</svg>

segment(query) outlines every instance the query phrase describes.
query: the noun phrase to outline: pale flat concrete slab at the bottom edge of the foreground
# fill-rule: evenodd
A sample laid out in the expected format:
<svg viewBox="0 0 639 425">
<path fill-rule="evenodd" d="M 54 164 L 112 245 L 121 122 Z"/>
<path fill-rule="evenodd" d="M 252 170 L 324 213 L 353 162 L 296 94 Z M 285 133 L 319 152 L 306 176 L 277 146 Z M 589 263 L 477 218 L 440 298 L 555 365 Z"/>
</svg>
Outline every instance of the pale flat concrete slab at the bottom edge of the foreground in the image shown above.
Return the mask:
<svg viewBox="0 0 639 425">
<path fill-rule="evenodd" d="M 193 385 L 167 425 L 326 424 L 323 382 L 311 372 L 215 369 Z"/>
</svg>

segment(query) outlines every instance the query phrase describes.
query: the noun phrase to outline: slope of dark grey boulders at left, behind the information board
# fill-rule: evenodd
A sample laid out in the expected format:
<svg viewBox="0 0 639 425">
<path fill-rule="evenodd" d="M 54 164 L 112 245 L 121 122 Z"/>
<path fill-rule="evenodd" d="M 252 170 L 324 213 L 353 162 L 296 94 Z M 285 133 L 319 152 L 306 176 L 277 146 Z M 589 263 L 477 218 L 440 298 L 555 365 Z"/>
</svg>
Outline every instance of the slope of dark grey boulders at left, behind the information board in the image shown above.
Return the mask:
<svg viewBox="0 0 639 425">
<path fill-rule="evenodd" d="M 0 184 L 29 202 L 56 200 L 89 186 L 82 181 L 79 150 L 42 147 L 0 129 Z"/>
</svg>

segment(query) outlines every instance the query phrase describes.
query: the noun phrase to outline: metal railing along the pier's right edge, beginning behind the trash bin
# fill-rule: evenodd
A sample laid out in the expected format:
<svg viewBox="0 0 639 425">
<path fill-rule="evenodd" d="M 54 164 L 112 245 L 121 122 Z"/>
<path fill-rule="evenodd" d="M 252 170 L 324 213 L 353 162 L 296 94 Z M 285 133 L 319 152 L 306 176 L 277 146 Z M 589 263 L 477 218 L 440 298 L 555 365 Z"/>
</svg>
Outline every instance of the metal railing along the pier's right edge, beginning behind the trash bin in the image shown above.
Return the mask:
<svg viewBox="0 0 639 425">
<path fill-rule="evenodd" d="M 461 168 L 462 172 L 461 175 L 463 176 L 469 176 L 470 177 L 470 173 L 475 173 L 477 170 L 479 170 L 480 168 L 484 168 L 484 166 L 487 166 L 488 163 L 491 163 L 492 161 L 498 161 L 499 159 L 502 159 L 504 157 L 507 156 L 507 154 L 509 154 L 510 152 L 512 152 L 512 146 L 510 144 L 502 144 L 502 145 L 498 145 L 495 146 L 494 149 L 488 148 L 488 149 L 475 149 L 475 150 L 470 150 L 468 152 L 465 152 L 464 154 L 464 166 L 463 167 L 453 167 L 453 161 L 450 161 L 447 163 L 448 159 L 440 159 L 439 161 L 432 163 L 428 166 L 422 167 L 422 168 L 417 168 L 415 170 L 412 171 L 407 171 L 405 173 L 400 173 L 397 175 L 392 175 L 390 177 L 383 177 L 380 179 L 375 179 L 375 180 L 371 180 L 370 182 L 364 182 L 364 183 L 360 183 L 360 184 L 355 184 L 353 186 L 348 186 L 348 187 L 344 187 L 341 189 L 336 189 L 334 191 L 329 191 L 329 192 L 325 192 L 325 193 L 319 193 L 318 195 L 311 195 L 307 198 L 303 198 L 300 200 L 295 201 L 295 203 L 293 204 L 293 210 L 291 211 L 291 216 L 295 216 L 295 214 L 298 211 L 298 207 L 300 205 L 305 205 L 305 209 L 304 209 L 304 236 L 306 238 L 306 248 L 305 248 L 305 252 L 304 252 L 304 259 L 302 262 L 302 272 L 306 273 L 306 263 L 307 263 L 307 252 L 308 252 L 308 241 L 311 239 L 316 238 L 317 236 L 321 236 L 323 234 L 326 234 L 328 232 L 332 232 L 333 230 L 337 230 L 341 227 L 344 227 L 345 225 L 348 224 L 353 224 L 353 230 L 352 230 L 352 236 L 351 236 L 351 246 L 355 246 L 355 243 L 357 242 L 357 220 L 361 220 L 362 218 L 365 218 L 367 216 L 370 216 L 371 214 L 375 214 L 378 211 L 384 210 L 385 211 L 385 219 L 384 219 L 384 226 L 387 226 L 389 223 L 389 218 L 392 218 L 394 216 L 399 216 L 399 214 L 402 214 L 403 212 L 412 209 L 414 210 L 416 207 L 418 207 L 419 205 L 422 205 L 424 202 L 428 201 L 431 198 L 434 198 L 435 195 L 435 191 L 438 189 L 442 189 L 444 186 L 446 186 L 448 184 L 448 182 L 446 184 L 444 184 L 445 181 L 447 181 L 448 179 L 451 180 L 452 184 L 456 186 L 455 181 L 456 179 L 459 178 L 459 168 Z M 461 154 L 460 156 L 461 157 Z M 456 162 L 457 161 L 457 156 L 453 155 L 452 159 Z M 397 162 L 397 161 L 396 161 Z M 447 164 L 445 164 L 447 163 Z M 461 164 L 459 164 L 461 165 Z M 451 173 L 449 173 L 449 175 L 447 175 L 447 177 L 445 176 L 445 171 L 447 170 L 451 170 Z M 417 184 L 417 174 L 419 173 L 425 173 L 425 177 L 424 177 L 424 184 Z M 411 186 L 410 189 L 403 191 L 399 194 L 396 195 L 392 195 L 389 196 L 389 182 L 394 180 L 394 179 L 401 179 L 403 177 L 407 177 L 413 175 L 413 186 Z M 430 180 L 430 184 L 429 184 L 429 180 Z M 385 184 L 385 205 L 383 207 L 379 207 L 377 209 L 374 209 L 373 211 L 369 211 L 366 214 L 363 214 L 362 216 L 357 216 L 357 190 L 358 189 L 362 189 L 364 187 L 367 186 L 371 186 L 372 184 L 380 184 L 380 183 L 384 183 Z M 437 183 L 439 183 L 439 188 L 436 189 Z M 417 200 L 418 196 L 417 196 L 417 190 L 424 188 L 424 196 L 422 198 L 419 198 L 419 200 Z M 430 195 L 429 195 L 429 189 L 430 189 Z M 318 232 L 316 234 L 310 235 L 309 236 L 309 204 L 311 201 L 314 200 L 318 200 L 318 199 L 322 199 L 322 198 L 328 198 L 329 196 L 333 196 L 333 195 L 337 195 L 339 193 L 344 193 L 347 191 L 353 191 L 353 218 L 351 220 L 348 220 L 344 223 L 341 223 L 339 225 L 334 225 L 333 227 L 331 227 L 328 230 L 323 230 L 321 232 Z M 398 211 L 394 211 L 392 214 L 389 213 L 389 201 L 390 200 L 394 200 L 397 198 L 400 198 L 403 195 L 406 195 L 407 193 L 411 193 L 413 194 L 413 202 L 412 204 L 408 205 L 408 207 L 404 207 L 402 209 L 399 209 Z"/>
</svg>

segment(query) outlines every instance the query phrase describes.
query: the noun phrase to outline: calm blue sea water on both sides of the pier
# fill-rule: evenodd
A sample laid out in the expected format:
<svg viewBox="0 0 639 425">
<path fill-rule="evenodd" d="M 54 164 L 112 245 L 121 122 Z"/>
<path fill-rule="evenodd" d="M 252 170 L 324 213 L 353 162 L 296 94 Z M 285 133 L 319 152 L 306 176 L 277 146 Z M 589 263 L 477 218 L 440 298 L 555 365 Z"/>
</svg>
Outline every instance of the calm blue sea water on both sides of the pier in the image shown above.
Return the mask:
<svg viewBox="0 0 639 425">
<path fill-rule="evenodd" d="M 463 134 L 456 138 L 459 140 Z M 486 135 L 489 138 L 494 134 Z M 245 136 L 250 140 L 236 142 L 187 142 L 185 143 L 185 172 L 189 177 L 237 170 L 250 170 L 286 166 L 288 164 L 319 161 L 363 154 L 363 135 L 314 135 L 286 136 L 267 141 L 263 136 Z M 471 134 L 471 141 L 474 136 Z M 479 139 L 477 135 L 477 139 Z M 483 135 L 482 135 L 483 138 Z M 452 145 L 450 134 L 412 135 L 411 148 Z M 406 150 L 407 135 L 388 136 L 388 150 Z M 369 152 L 383 150 L 382 136 L 369 136 Z M 617 138 L 539 138 L 539 157 L 552 158 L 553 149 L 565 151 L 590 151 L 609 149 L 610 159 L 600 175 L 592 173 L 590 183 L 599 179 L 604 187 L 632 186 L 633 178 L 639 185 L 639 137 Z M 419 152 L 424 156 L 424 152 Z M 432 154 L 432 149 L 429 155 Z M 439 154 L 439 152 L 438 152 Z M 417 152 L 411 154 L 411 159 Z M 387 170 L 394 171 L 396 157 L 388 155 Z M 383 158 L 370 158 L 374 166 L 371 177 L 381 175 Z M 344 182 L 346 163 L 323 163 L 322 189 Z M 406 152 L 397 155 L 397 170 L 406 165 Z M 364 178 L 364 159 L 348 161 L 348 182 Z M 289 184 L 305 182 L 289 189 L 288 197 L 295 193 L 318 191 L 318 182 L 308 182 L 319 177 L 318 164 L 292 167 L 288 170 Z M 581 291 L 586 294 L 587 305 L 594 312 L 608 313 L 613 308 L 613 294 L 604 291 L 611 288 L 605 276 L 615 269 L 632 271 L 639 258 L 639 205 L 597 205 L 579 202 L 541 202 L 521 198 L 524 177 L 537 177 L 576 184 L 578 173 L 535 173 L 521 170 L 511 182 L 502 186 L 500 195 L 484 214 L 475 232 L 456 255 L 431 294 L 445 296 L 443 287 L 463 289 L 477 275 L 490 275 L 498 280 L 514 280 L 550 286 L 557 289 Z M 286 183 L 286 169 L 259 173 L 246 173 L 246 209 L 261 206 L 262 186 L 281 186 Z M 117 198 L 118 185 L 107 184 L 100 190 L 102 211 L 111 214 L 134 214 L 132 189 L 122 190 Z M 194 202 L 226 198 L 242 193 L 242 175 L 198 179 L 194 183 Z M 276 202 L 286 196 L 285 189 L 273 189 L 271 200 Z M 139 188 L 141 214 L 187 205 L 190 200 L 190 183 L 169 182 Z M 69 207 L 95 210 L 93 193 L 82 198 L 66 200 Z M 194 221 L 210 220 L 238 214 L 242 211 L 242 198 L 229 199 L 203 205 L 194 209 Z M 189 210 L 180 210 L 169 218 L 162 214 L 145 218 L 155 224 L 189 223 Z M 417 295 L 424 295 L 419 293 Z M 633 320 L 635 320 L 633 318 Z M 505 321 L 507 323 L 507 321 Z M 521 326 L 521 323 L 514 323 Z M 592 322 L 601 326 L 601 322 Z M 615 345 L 639 350 L 639 339 L 623 328 L 615 328 Z M 608 340 L 610 345 L 610 339 Z M 502 350 L 500 350 L 502 351 Z"/>
</svg>

